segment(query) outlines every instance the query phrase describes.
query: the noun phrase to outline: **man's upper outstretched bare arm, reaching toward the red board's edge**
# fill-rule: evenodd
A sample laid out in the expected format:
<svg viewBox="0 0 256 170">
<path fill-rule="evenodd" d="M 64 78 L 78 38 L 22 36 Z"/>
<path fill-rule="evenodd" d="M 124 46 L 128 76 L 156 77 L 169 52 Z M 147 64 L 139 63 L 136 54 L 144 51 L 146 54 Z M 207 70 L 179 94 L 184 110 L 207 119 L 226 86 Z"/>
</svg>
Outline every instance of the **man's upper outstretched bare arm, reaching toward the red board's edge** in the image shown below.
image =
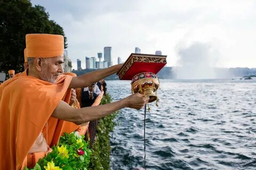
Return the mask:
<svg viewBox="0 0 256 170">
<path fill-rule="evenodd" d="M 98 82 L 101 79 L 108 77 L 111 74 L 117 73 L 121 69 L 123 64 L 113 65 L 106 69 L 93 71 L 80 75 L 78 77 L 73 77 L 69 88 L 79 88 L 79 87 L 89 87 L 92 83 Z"/>
</svg>

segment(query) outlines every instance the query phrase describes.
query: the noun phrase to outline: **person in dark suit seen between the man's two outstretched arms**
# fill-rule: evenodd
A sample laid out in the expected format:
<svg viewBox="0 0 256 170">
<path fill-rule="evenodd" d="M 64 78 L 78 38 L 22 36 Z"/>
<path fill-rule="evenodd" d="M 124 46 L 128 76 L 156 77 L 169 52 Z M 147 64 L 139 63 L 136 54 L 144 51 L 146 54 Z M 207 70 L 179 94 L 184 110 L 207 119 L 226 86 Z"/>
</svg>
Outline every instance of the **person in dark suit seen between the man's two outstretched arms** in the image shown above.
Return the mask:
<svg viewBox="0 0 256 170">
<path fill-rule="evenodd" d="M 82 89 L 81 94 L 81 107 L 90 107 L 94 103 L 95 99 L 97 98 L 97 94 L 94 92 L 95 84 L 91 84 L 88 90 L 84 91 Z"/>
</svg>

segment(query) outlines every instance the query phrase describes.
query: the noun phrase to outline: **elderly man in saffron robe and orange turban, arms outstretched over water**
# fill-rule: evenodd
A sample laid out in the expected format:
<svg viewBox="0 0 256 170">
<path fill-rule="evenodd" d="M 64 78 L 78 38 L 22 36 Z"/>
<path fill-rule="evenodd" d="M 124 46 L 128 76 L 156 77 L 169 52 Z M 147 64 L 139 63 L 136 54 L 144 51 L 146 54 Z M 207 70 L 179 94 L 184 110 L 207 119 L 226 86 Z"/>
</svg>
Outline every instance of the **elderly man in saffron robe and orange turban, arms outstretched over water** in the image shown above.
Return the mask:
<svg viewBox="0 0 256 170">
<path fill-rule="evenodd" d="M 60 35 L 26 35 L 28 69 L 0 86 L 0 169 L 20 169 L 44 157 L 49 146 L 57 145 L 65 121 L 79 125 L 148 102 L 145 95 L 134 94 L 106 105 L 69 106 L 71 88 L 87 87 L 122 64 L 78 77 L 63 75 L 63 46 Z"/>
</svg>

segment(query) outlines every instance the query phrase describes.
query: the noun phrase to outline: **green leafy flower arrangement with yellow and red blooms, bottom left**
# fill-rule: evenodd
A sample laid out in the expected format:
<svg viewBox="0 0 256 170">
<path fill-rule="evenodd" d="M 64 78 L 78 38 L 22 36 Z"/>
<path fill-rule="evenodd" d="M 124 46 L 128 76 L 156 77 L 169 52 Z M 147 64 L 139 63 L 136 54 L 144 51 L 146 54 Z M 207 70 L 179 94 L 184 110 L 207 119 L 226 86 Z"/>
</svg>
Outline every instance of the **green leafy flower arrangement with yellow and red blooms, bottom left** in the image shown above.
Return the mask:
<svg viewBox="0 0 256 170">
<path fill-rule="evenodd" d="M 58 146 L 52 147 L 52 152 L 39 159 L 34 170 L 87 170 L 90 163 L 91 150 L 87 147 L 84 135 L 77 132 L 65 133 L 60 137 Z M 29 170 L 27 167 L 24 169 Z"/>
</svg>

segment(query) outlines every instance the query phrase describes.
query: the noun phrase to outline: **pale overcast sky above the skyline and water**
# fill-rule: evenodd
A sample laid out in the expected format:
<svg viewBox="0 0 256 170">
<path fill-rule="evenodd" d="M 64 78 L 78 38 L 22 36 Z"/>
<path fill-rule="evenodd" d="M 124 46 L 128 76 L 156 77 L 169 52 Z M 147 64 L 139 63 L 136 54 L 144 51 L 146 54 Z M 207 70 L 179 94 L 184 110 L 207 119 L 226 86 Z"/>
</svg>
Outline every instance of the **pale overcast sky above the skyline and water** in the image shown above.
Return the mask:
<svg viewBox="0 0 256 170">
<path fill-rule="evenodd" d="M 113 64 L 134 48 L 167 55 L 167 66 L 202 58 L 194 45 L 207 46 L 210 66 L 256 67 L 256 1 L 32 0 L 64 29 L 68 56 L 85 67 L 85 56 L 97 57 L 112 47 Z M 201 57 L 197 57 L 197 54 Z M 194 62 L 195 63 L 195 62 Z"/>
</svg>

